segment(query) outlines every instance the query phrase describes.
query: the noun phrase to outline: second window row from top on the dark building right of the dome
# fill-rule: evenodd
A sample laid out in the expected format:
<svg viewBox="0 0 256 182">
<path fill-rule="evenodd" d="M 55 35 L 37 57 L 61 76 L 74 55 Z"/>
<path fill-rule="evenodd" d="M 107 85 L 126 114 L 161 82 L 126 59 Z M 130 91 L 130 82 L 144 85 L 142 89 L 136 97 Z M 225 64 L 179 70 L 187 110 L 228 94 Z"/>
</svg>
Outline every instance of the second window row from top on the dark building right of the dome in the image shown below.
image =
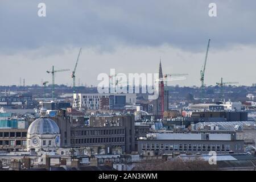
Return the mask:
<svg viewBox="0 0 256 182">
<path fill-rule="evenodd" d="M 124 137 L 71 139 L 71 144 L 125 142 Z"/>
</svg>

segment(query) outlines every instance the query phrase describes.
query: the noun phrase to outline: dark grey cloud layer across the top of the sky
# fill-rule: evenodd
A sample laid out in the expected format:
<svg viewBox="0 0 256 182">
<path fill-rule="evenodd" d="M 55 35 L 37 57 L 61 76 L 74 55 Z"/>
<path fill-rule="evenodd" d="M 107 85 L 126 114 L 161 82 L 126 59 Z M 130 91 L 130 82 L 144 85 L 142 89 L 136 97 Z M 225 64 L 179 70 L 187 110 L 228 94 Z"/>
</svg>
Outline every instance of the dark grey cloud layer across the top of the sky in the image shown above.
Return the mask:
<svg viewBox="0 0 256 182">
<path fill-rule="evenodd" d="M 4 53 L 39 47 L 171 46 L 191 51 L 255 44 L 256 1 L 42 1 L 0 2 L 0 48 Z M 216 18 L 208 16 L 217 3 Z"/>
</svg>

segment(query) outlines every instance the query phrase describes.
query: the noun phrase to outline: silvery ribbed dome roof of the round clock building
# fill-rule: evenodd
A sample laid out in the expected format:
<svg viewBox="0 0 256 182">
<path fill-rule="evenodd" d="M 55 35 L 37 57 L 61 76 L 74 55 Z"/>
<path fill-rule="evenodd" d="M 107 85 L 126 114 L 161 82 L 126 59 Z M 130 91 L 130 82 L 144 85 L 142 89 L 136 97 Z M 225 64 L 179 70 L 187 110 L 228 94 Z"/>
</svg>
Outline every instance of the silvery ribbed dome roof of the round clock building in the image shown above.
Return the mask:
<svg viewBox="0 0 256 182">
<path fill-rule="evenodd" d="M 60 129 L 52 119 L 42 117 L 30 124 L 27 134 L 60 134 Z"/>
</svg>

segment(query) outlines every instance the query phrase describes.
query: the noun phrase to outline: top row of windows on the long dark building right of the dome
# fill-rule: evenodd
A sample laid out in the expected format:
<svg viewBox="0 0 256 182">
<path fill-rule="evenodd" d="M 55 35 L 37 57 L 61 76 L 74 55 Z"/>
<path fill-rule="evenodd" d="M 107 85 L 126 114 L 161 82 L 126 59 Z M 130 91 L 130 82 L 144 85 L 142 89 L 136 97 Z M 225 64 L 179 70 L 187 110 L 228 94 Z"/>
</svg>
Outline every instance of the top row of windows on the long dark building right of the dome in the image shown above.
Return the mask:
<svg viewBox="0 0 256 182">
<path fill-rule="evenodd" d="M 71 136 L 90 136 L 90 135 L 120 135 L 125 134 L 124 129 L 113 129 L 113 130 L 81 130 L 71 131 Z"/>
</svg>

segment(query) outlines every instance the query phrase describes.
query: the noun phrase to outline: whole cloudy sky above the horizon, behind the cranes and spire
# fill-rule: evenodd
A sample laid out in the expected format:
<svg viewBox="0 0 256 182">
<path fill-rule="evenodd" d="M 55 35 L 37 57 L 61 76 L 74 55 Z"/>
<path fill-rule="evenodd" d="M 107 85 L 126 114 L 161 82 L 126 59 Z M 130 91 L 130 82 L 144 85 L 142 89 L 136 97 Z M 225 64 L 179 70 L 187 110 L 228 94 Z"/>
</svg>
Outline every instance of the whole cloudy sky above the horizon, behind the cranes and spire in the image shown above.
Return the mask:
<svg viewBox="0 0 256 182">
<path fill-rule="evenodd" d="M 46 17 L 38 4 L 46 3 Z M 209 17 L 209 3 L 217 17 Z M 77 82 L 97 85 L 99 73 L 188 73 L 171 84 L 200 86 L 210 38 L 205 84 L 256 80 L 254 0 L 0 0 L 0 85 L 51 81 L 46 71 L 73 69 L 82 47 Z M 71 71 L 56 84 L 72 84 Z"/>
</svg>

